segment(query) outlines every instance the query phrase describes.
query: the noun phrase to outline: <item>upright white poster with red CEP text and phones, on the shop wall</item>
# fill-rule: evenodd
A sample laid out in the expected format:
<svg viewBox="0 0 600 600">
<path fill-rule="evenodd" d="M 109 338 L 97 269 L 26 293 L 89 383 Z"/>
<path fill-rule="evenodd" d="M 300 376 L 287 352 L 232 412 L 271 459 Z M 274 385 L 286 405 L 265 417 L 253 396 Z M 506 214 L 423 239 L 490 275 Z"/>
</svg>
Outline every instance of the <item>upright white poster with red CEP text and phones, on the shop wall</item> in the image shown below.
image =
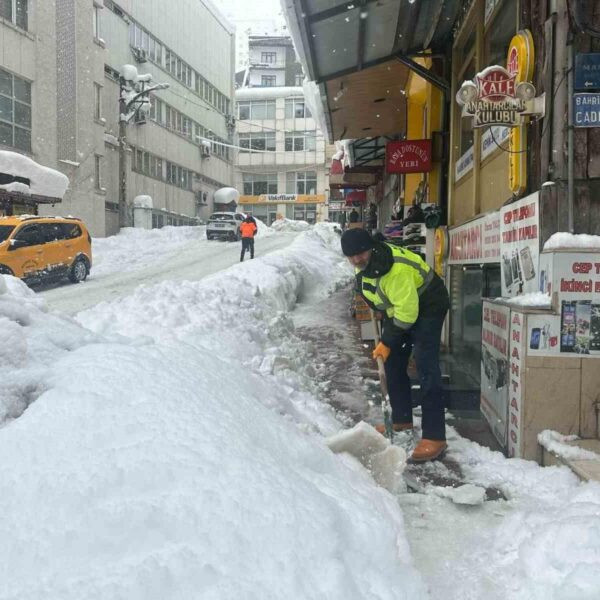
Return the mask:
<svg viewBox="0 0 600 600">
<path fill-rule="evenodd" d="M 502 297 L 539 289 L 539 194 L 535 192 L 500 209 Z"/>
</svg>

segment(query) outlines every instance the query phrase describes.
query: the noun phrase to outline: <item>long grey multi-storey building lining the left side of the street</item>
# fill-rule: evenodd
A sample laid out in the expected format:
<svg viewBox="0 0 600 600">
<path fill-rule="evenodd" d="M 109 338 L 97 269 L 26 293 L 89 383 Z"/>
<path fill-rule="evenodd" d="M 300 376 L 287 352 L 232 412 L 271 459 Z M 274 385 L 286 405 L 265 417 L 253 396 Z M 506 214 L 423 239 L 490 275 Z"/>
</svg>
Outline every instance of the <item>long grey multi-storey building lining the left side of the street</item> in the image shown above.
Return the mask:
<svg viewBox="0 0 600 600">
<path fill-rule="evenodd" d="M 196 223 L 232 183 L 234 62 L 233 27 L 210 0 L 0 2 L 0 148 L 69 177 L 40 213 L 115 233 L 119 76 L 133 64 L 169 88 L 127 126 L 127 200 L 151 196 L 156 227 Z"/>
</svg>

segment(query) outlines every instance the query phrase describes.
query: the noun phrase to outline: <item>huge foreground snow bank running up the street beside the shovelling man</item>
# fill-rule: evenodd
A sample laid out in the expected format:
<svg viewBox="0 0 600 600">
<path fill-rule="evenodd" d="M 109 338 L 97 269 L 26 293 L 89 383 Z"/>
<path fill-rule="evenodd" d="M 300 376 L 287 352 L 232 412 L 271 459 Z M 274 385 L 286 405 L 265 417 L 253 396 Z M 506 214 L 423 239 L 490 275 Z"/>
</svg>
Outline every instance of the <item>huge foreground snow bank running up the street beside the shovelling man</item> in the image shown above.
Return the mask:
<svg viewBox="0 0 600 600">
<path fill-rule="evenodd" d="M 46 342 L 45 392 L 0 432 L 0 598 L 427 597 L 396 500 L 290 383 L 306 348 L 281 311 L 351 277 L 331 228 L 300 238 L 80 316 L 104 338 L 69 322 L 71 351 Z"/>
</svg>

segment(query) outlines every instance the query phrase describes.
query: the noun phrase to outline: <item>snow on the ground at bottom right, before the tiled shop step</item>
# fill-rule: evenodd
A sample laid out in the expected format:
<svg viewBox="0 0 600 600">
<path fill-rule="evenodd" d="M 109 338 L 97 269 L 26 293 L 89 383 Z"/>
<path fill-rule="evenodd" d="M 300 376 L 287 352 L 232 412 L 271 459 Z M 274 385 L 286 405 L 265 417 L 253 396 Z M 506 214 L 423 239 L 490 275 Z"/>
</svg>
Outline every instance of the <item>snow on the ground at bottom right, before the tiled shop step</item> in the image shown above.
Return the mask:
<svg viewBox="0 0 600 600">
<path fill-rule="evenodd" d="M 439 513 L 430 519 L 435 539 L 425 544 L 444 543 L 444 528 L 451 535 L 444 564 L 438 560 L 432 565 L 443 597 L 595 600 L 600 589 L 600 484 L 581 483 L 567 467 L 507 459 L 457 436 L 451 427 L 447 436 L 450 456 L 467 479 L 500 488 L 509 502 L 485 502 L 482 512 L 471 512 L 466 520 L 453 506 L 441 508 L 436 500 L 417 507 L 421 514 Z M 422 529 L 418 533 L 423 537 Z M 476 576 L 461 582 L 456 573 L 464 569 Z"/>
</svg>

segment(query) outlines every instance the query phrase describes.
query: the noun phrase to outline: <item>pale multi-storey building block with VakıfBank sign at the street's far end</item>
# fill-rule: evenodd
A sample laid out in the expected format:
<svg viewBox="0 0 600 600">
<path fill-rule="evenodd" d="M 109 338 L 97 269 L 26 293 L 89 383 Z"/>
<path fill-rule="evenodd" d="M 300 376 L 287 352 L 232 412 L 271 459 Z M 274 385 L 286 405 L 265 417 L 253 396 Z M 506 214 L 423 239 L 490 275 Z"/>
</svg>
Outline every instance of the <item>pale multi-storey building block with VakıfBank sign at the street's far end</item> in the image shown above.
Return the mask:
<svg viewBox="0 0 600 600">
<path fill-rule="evenodd" d="M 269 225 L 325 220 L 332 150 L 306 105 L 291 39 L 252 36 L 249 57 L 235 93 L 240 204 Z"/>
</svg>

